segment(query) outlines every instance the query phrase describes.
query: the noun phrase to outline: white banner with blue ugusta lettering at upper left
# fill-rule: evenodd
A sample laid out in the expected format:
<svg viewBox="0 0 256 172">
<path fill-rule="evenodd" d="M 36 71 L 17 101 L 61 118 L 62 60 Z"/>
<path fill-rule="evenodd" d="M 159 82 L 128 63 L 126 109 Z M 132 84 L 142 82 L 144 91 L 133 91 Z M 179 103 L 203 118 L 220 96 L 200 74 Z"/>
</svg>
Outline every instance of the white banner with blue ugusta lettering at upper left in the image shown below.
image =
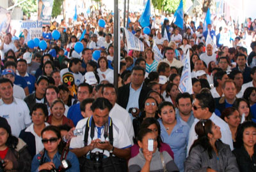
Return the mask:
<svg viewBox="0 0 256 172">
<path fill-rule="evenodd" d="M 42 37 L 42 20 L 32 21 L 32 20 L 12 20 L 11 22 L 12 30 L 16 30 L 16 34 L 19 36 L 20 32 L 24 29 L 28 31 L 28 39 L 41 38 Z"/>
</svg>

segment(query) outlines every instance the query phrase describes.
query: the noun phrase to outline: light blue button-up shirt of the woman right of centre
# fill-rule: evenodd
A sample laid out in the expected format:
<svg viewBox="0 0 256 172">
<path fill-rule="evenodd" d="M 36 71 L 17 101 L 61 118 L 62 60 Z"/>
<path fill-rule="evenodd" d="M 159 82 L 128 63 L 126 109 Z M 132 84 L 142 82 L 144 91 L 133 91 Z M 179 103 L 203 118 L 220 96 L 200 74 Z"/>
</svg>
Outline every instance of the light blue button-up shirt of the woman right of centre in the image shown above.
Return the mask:
<svg viewBox="0 0 256 172">
<path fill-rule="evenodd" d="M 167 143 L 173 151 L 174 162 L 184 172 L 184 161 L 186 160 L 186 152 L 189 136 L 189 125 L 180 118 L 177 118 L 177 124 L 174 126 L 172 133 L 168 135 L 161 119 L 158 120 L 161 126 L 161 137 L 163 142 Z"/>
</svg>

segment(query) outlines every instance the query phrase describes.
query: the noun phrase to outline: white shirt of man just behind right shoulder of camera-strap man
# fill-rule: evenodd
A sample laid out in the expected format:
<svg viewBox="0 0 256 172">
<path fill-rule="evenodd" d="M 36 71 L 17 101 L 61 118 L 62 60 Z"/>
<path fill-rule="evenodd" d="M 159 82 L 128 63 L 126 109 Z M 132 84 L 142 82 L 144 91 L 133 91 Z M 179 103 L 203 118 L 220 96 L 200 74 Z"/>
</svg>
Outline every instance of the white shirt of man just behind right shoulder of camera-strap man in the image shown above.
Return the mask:
<svg viewBox="0 0 256 172">
<path fill-rule="evenodd" d="M 132 138 L 134 137 L 134 129 L 132 126 L 131 117 L 130 117 L 129 113 L 127 112 L 127 110 L 122 108 L 119 104 L 115 103 L 115 105 L 113 106 L 111 111 L 109 111 L 109 117 L 116 118 L 123 123 L 123 125 L 127 131 L 127 134 L 129 136 L 129 139 L 130 139 L 131 143 L 133 143 Z"/>
</svg>

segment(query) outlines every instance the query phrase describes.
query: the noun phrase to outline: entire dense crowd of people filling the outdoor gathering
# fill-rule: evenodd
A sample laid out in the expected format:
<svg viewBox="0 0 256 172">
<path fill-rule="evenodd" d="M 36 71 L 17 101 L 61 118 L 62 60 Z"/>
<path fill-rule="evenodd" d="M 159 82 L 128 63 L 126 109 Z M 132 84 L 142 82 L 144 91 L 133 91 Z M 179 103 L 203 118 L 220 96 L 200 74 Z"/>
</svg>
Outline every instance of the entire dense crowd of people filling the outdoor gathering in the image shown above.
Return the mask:
<svg viewBox="0 0 256 172">
<path fill-rule="evenodd" d="M 256 171 L 256 19 L 216 17 L 204 31 L 188 15 L 184 29 L 156 16 L 145 34 L 130 18 L 145 51 L 122 30 L 118 87 L 111 13 L 53 21 L 45 50 L 28 47 L 26 29 L 1 37 L 0 169 Z M 186 54 L 193 94 L 179 90 Z"/>
</svg>

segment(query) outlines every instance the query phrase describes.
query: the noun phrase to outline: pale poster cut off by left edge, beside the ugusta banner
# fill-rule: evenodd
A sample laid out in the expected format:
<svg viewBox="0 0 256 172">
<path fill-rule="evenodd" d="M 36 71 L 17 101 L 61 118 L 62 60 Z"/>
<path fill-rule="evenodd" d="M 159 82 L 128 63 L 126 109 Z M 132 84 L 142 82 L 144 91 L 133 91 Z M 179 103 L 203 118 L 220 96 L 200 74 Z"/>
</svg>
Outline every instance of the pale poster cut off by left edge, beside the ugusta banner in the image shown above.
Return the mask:
<svg viewBox="0 0 256 172">
<path fill-rule="evenodd" d="M 0 35 L 10 32 L 11 13 L 0 6 Z"/>
</svg>

